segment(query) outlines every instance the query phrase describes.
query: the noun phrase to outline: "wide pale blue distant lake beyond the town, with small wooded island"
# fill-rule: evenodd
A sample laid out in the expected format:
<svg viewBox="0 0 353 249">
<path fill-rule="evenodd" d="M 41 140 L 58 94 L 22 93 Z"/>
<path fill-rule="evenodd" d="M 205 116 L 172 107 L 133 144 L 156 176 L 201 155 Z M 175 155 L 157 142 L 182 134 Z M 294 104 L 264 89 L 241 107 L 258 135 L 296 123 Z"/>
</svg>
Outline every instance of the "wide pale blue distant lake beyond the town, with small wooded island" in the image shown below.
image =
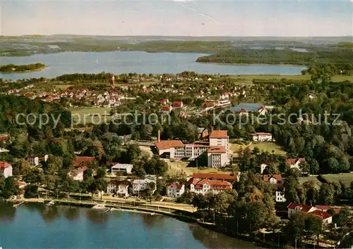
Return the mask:
<svg viewBox="0 0 353 249">
<path fill-rule="evenodd" d="M 47 53 L 33 56 L 0 57 L 2 65 L 44 63 L 47 68 L 38 72 L 2 74 L 3 79 L 56 77 L 71 73 L 136 72 L 138 74 L 177 74 L 196 71 L 221 75 L 299 75 L 303 67 L 297 65 L 219 65 L 196 63 L 201 53 L 147 53 L 143 51 Z"/>
</svg>

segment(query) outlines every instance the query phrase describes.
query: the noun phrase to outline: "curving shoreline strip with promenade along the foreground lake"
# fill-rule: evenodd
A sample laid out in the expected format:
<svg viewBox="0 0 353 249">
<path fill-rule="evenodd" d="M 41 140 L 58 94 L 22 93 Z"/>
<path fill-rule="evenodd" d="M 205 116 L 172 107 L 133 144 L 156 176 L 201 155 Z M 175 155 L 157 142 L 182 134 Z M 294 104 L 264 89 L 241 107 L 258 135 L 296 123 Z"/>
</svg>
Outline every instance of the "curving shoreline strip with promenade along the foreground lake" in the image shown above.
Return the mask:
<svg viewBox="0 0 353 249">
<path fill-rule="evenodd" d="M 30 198 L 30 199 L 18 199 L 18 200 L 6 200 L 6 202 L 11 202 L 14 205 L 16 203 L 42 203 L 44 205 L 47 205 L 47 203 L 54 201 L 54 205 L 56 207 L 60 206 L 66 206 L 66 207 L 80 207 L 80 208 L 92 208 L 97 204 L 102 205 L 102 202 L 93 202 L 93 203 L 88 203 L 88 202 L 79 202 L 79 201 L 71 201 L 71 200 L 55 200 L 55 199 L 44 199 L 44 198 Z M 208 222 L 201 222 L 200 220 L 196 219 L 195 217 L 190 217 L 186 215 L 181 215 L 181 214 L 174 214 L 172 212 L 164 212 L 162 210 L 150 210 L 148 208 L 140 208 L 140 207 L 124 207 L 121 206 L 119 207 L 119 203 L 104 203 L 104 208 L 109 208 L 109 212 L 112 211 L 120 211 L 120 212 L 133 212 L 133 213 L 139 213 L 139 214 L 145 214 L 145 215 L 162 215 L 164 217 L 171 217 L 174 219 L 178 219 L 181 222 L 186 222 L 186 223 L 193 223 L 197 224 L 198 226 L 202 226 L 205 229 L 208 229 L 210 231 L 214 231 L 218 234 L 223 234 L 225 236 L 228 236 L 229 238 L 235 238 L 238 240 L 242 241 L 248 241 L 250 243 L 253 243 L 254 245 L 261 246 L 263 248 L 278 248 L 278 246 L 271 245 L 270 243 L 266 243 L 264 241 L 254 239 L 253 237 L 246 236 L 246 235 L 235 235 L 231 234 L 230 232 L 227 231 L 220 231 L 217 230 L 216 224 L 211 224 Z M 112 210 L 112 208 L 114 208 Z M 106 212 L 106 211 L 104 211 Z"/>
</svg>

